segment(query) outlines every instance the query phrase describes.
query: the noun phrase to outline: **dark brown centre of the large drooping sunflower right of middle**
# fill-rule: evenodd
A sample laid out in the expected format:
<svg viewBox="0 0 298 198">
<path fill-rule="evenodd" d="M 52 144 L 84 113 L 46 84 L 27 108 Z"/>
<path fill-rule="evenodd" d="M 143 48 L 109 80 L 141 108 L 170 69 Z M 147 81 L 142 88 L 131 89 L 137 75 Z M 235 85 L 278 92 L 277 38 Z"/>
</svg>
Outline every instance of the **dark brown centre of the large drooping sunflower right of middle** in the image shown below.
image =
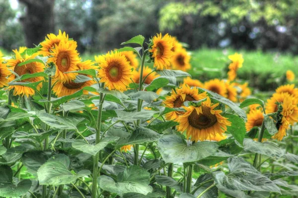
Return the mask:
<svg viewBox="0 0 298 198">
<path fill-rule="evenodd" d="M 206 129 L 215 125 L 217 123 L 217 117 L 210 112 L 211 108 L 208 106 L 201 106 L 201 108 L 202 113 L 197 114 L 197 111 L 193 110 L 189 115 L 189 124 L 197 129 Z"/>
</svg>

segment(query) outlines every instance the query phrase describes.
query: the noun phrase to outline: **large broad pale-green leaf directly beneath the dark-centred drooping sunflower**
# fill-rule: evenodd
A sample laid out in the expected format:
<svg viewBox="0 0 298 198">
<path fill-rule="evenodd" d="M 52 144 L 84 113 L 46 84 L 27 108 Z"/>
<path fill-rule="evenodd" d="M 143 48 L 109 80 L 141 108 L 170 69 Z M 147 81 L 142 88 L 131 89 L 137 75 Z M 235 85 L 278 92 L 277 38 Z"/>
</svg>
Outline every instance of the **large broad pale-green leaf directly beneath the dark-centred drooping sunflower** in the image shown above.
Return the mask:
<svg viewBox="0 0 298 198">
<path fill-rule="evenodd" d="M 177 135 L 163 135 L 157 148 L 165 163 L 185 163 L 199 161 L 216 152 L 218 145 L 214 142 L 198 142 L 187 146 Z"/>
</svg>

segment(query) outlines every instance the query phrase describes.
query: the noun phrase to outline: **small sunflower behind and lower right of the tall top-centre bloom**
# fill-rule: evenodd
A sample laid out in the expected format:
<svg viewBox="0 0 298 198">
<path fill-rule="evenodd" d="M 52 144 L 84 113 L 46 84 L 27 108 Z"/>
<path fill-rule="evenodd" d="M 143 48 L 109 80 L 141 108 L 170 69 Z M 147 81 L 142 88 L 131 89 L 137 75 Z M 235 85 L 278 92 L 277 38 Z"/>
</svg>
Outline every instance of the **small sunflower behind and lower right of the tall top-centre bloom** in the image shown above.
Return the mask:
<svg viewBox="0 0 298 198">
<path fill-rule="evenodd" d="M 190 55 L 183 48 L 176 50 L 171 58 L 171 63 L 174 69 L 187 71 L 191 69 Z"/>
</svg>

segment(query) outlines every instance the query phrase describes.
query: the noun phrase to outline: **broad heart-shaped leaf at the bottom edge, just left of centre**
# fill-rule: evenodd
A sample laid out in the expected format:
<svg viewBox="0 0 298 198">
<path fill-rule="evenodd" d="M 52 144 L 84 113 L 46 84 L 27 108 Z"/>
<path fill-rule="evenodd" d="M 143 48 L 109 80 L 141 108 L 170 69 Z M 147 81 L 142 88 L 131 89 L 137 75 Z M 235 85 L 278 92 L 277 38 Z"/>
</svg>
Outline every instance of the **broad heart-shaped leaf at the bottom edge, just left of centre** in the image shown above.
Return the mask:
<svg viewBox="0 0 298 198">
<path fill-rule="evenodd" d="M 152 192 L 149 186 L 150 174 L 139 166 L 130 166 L 117 176 L 117 182 L 112 178 L 101 175 L 98 177 L 98 185 L 105 191 L 116 193 L 121 197 L 125 193 L 140 193 L 147 195 Z"/>
</svg>

